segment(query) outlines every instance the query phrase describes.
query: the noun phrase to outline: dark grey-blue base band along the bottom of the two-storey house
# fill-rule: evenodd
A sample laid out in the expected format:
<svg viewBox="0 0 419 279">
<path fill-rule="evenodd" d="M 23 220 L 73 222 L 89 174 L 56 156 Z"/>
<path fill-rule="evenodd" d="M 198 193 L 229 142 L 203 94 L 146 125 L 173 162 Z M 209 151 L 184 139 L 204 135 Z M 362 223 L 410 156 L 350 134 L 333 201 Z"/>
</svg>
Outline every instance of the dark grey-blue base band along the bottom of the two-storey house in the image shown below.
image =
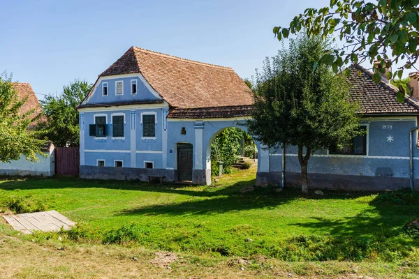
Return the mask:
<svg viewBox="0 0 419 279">
<path fill-rule="evenodd" d="M 140 180 L 148 181 L 148 176 L 161 176 L 164 181 L 177 180 L 175 169 L 138 169 L 134 167 L 96 167 L 80 166 L 81 179 L 116 179 L 116 180 Z"/>
</svg>

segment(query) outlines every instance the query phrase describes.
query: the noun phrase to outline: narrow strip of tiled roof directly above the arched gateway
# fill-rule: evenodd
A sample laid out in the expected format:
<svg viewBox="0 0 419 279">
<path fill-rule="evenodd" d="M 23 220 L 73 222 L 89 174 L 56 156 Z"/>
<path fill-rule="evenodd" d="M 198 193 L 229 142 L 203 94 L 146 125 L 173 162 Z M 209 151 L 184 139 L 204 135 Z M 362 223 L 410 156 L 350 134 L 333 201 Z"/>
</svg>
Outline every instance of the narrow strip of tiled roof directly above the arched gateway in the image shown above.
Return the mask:
<svg viewBox="0 0 419 279">
<path fill-rule="evenodd" d="M 198 107 L 191 109 L 170 110 L 168 117 L 176 119 L 209 119 L 233 118 L 251 116 L 253 105 L 240 105 L 235 107 Z"/>
</svg>

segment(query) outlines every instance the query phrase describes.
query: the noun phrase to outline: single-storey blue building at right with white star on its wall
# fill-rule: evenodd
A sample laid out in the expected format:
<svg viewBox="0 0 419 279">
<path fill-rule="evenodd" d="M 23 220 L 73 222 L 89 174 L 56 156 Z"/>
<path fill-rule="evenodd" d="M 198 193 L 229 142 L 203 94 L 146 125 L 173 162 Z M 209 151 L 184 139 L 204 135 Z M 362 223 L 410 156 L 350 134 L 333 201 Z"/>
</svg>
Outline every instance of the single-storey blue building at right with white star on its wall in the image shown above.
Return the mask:
<svg viewBox="0 0 419 279">
<path fill-rule="evenodd" d="M 351 100 L 360 104 L 363 114 L 360 128 L 365 136 L 353 139 L 343 150 L 317 151 L 308 166 L 309 179 L 314 188 L 351 190 L 385 190 L 409 188 L 410 160 L 409 133 L 418 126 L 418 75 L 411 75 L 413 93 L 404 103 L 397 101 L 398 89 L 382 77 L 380 84 L 372 80 L 372 73 L 353 65 L 348 78 Z M 385 76 L 384 74 L 383 76 Z M 419 188 L 419 152 L 417 133 L 414 133 L 414 177 Z M 270 183 L 281 179 L 282 151 L 270 156 Z M 286 148 L 286 183 L 300 183 L 301 168 L 297 150 Z"/>
</svg>

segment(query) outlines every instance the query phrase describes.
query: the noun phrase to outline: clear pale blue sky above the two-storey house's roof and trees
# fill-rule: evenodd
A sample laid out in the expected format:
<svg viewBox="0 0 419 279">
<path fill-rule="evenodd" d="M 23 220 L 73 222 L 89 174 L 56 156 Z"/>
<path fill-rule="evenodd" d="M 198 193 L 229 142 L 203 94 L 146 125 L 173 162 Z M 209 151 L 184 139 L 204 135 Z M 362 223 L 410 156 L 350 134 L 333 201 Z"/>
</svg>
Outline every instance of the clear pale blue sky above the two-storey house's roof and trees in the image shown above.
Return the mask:
<svg viewBox="0 0 419 279">
<path fill-rule="evenodd" d="M 251 77 L 281 47 L 275 25 L 329 0 L 3 1 L 0 73 L 37 93 L 97 76 L 132 45 Z M 38 98 L 42 98 L 38 95 Z"/>
</svg>

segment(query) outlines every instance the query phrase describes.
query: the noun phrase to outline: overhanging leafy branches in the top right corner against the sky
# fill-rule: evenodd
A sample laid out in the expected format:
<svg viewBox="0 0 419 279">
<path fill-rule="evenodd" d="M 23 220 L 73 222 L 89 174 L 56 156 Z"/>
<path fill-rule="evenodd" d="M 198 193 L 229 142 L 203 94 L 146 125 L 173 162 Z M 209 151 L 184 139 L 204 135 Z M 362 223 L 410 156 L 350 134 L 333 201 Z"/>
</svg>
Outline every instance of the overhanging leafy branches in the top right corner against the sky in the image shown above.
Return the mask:
<svg viewBox="0 0 419 279">
<path fill-rule="evenodd" d="M 330 0 L 330 6 L 307 8 L 297 15 L 290 27 L 274 27 L 279 40 L 290 33 L 304 29 L 309 36 L 326 38 L 335 33 L 344 41 L 341 49 L 328 51 L 319 62 L 333 67 L 335 73 L 349 62 L 362 63 L 369 59 L 378 61 L 374 80 L 381 81 L 379 73 L 385 68 L 402 61 L 398 70 L 388 73 L 390 77 L 402 77 L 403 70 L 416 68 L 419 44 L 419 0 Z M 416 70 L 418 70 L 416 68 Z M 403 92 L 398 99 L 404 100 Z"/>
</svg>

